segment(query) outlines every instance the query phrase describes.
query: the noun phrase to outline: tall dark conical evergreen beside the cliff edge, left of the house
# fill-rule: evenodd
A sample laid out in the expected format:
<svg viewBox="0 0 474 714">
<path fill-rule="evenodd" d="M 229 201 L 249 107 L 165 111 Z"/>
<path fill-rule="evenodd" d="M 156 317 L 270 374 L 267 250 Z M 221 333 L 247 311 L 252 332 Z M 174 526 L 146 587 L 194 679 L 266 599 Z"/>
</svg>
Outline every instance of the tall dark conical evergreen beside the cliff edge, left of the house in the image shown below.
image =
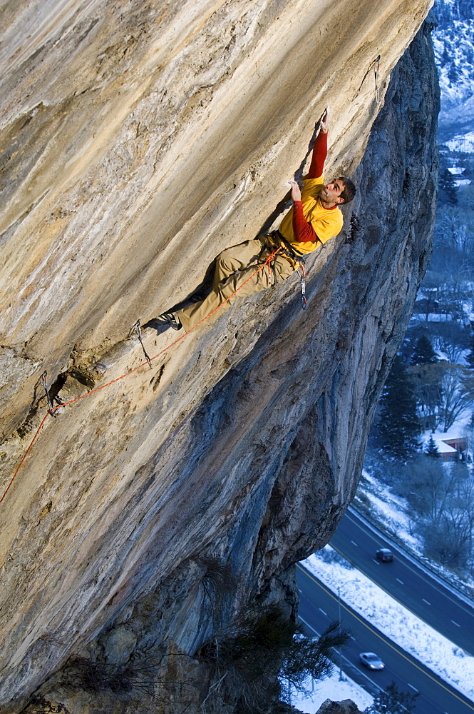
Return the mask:
<svg viewBox="0 0 474 714">
<path fill-rule="evenodd" d="M 378 438 L 381 448 L 396 458 L 405 459 L 418 451 L 420 423 L 416 416 L 413 382 L 400 356 L 393 360 L 380 399 Z"/>
</svg>

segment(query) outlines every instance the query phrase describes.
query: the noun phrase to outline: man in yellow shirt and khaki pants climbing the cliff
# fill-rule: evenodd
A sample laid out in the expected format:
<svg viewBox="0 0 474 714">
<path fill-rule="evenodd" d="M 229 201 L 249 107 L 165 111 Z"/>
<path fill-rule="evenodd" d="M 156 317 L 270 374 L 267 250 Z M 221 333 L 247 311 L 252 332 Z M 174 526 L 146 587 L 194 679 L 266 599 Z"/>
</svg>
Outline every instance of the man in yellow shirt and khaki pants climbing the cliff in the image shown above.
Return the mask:
<svg viewBox="0 0 474 714">
<path fill-rule="evenodd" d="M 150 320 L 148 326 L 156 328 L 158 332 L 170 327 L 175 330 L 184 328 L 188 332 L 219 306 L 220 314 L 237 297 L 253 295 L 288 278 L 302 265 L 303 256 L 315 251 L 319 243 L 322 245 L 329 238 L 337 236 L 343 223 L 338 206 L 351 201 L 356 188 L 344 176 L 324 185 L 323 169 L 329 129 L 327 108 L 319 128 L 311 165 L 303 178 L 303 191 L 300 191 L 296 181 L 290 181 L 293 206 L 283 218 L 278 231 L 226 248 L 217 256 L 212 290 L 207 298 L 181 310 L 163 313 Z"/>
</svg>

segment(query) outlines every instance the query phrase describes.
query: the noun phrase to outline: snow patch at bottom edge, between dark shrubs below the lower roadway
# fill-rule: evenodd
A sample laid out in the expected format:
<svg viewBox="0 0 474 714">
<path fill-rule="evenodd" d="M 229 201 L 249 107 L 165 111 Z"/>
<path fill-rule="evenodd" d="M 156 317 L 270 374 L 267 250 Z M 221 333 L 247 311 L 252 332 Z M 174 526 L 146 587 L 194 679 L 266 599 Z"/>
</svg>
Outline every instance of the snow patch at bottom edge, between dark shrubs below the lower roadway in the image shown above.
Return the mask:
<svg viewBox="0 0 474 714">
<path fill-rule="evenodd" d="M 333 702 L 351 699 L 361 711 L 369 707 L 373 702 L 373 697 L 347 675 L 343 674 L 343 676 L 344 680 L 340 682 L 339 672 L 334 670 L 330 677 L 321 682 L 310 680 L 308 689 L 311 689 L 311 695 L 293 693 L 292 705 L 305 714 L 317 712 L 326 699 L 331 699 Z"/>
</svg>

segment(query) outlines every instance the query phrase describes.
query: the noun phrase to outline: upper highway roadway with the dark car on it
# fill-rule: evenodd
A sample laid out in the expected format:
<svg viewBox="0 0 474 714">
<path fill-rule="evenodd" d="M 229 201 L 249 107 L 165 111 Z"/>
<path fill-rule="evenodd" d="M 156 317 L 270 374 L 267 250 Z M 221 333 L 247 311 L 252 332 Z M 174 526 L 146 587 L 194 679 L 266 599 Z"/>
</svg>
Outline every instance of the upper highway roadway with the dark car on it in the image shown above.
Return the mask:
<svg viewBox="0 0 474 714">
<path fill-rule="evenodd" d="M 366 526 L 354 511 L 342 518 L 330 544 L 418 618 L 474 653 L 474 608 Z M 376 560 L 378 548 L 390 548 L 393 563 Z"/>
</svg>

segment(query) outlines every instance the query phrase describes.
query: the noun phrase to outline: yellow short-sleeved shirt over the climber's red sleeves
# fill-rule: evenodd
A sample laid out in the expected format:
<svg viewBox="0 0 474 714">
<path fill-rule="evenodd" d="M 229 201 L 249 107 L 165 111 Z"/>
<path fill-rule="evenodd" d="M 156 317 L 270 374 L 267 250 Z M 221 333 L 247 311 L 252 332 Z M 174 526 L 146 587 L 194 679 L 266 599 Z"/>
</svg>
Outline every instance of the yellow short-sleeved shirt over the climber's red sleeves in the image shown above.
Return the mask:
<svg viewBox="0 0 474 714">
<path fill-rule="evenodd" d="M 326 243 L 329 238 L 334 238 L 341 231 L 343 218 L 339 208 L 324 208 L 319 200 L 319 192 L 324 188 L 324 175 L 319 178 L 304 178 L 302 190 L 302 203 L 304 218 L 314 228 L 316 236 L 321 243 Z M 298 243 L 294 239 L 293 232 L 293 208 L 290 208 L 287 215 L 279 225 L 279 232 L 294 246 L 297 253 L 312 253 L 316 250 L 318 243 L 311 241 Z"/>
</svg>

